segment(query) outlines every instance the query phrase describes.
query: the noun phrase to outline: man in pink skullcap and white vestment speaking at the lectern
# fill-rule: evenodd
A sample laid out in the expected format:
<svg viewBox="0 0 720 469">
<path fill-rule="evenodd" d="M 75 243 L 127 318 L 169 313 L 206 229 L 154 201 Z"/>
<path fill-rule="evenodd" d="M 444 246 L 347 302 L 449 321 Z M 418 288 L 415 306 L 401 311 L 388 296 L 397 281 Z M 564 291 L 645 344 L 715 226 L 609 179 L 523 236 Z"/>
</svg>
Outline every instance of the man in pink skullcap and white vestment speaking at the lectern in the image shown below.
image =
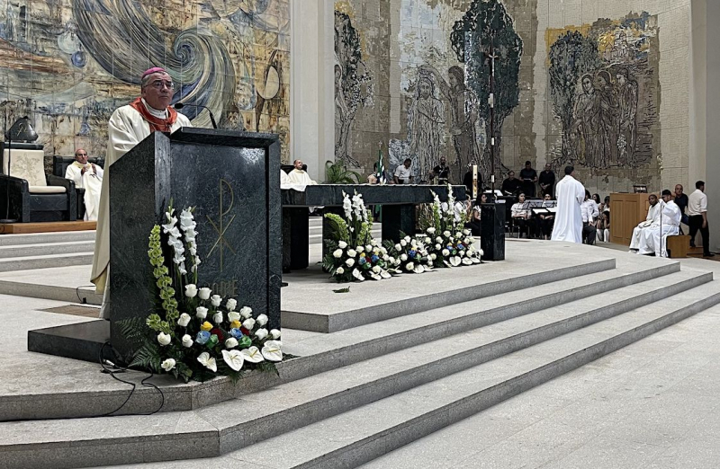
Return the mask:
<svg viewBox="0 0 720 469">
<path fill-rule="evenodd" d="M 181 127 L 192 127 L 190 119 L 170 107 L 175 85 L 167 72 L 154 67 L 142 74 L 140 97 L 112 112 L 108 122 L 108 145 L 106 167 L 110 167 L 122 155 L 128 153 L 145 137 L 159 130 L 174 132 Z M 93 258 L 93 281 L 97 293 L 103 293 L 100 317 L 109 319 L 107 276 L 110 264 L 110 194 L 109 180 L 103 179 L 100 208 L 95 235 Z"/>
</svg>

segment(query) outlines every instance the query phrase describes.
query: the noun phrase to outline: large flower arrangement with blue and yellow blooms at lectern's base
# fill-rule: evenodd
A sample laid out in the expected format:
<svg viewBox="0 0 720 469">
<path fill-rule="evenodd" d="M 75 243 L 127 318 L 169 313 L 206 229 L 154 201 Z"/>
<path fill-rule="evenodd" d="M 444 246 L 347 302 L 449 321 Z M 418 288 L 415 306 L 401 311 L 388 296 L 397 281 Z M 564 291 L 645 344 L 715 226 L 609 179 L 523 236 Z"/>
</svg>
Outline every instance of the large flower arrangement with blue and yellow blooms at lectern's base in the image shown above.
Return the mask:
<svg viewBox="0 0 720 469">
<path fill-rule="evenodd" d="M 162 232 L 154 226 L 148 243 L 159 305 L 145 321 L 121 322 L 121 333 L 139 345 L 130 367 L 169 373 L 185 382 L 214 376 L 237 380 L 243 368 L 275 370 L 275 362 L 283 359 L 282 342 L 279 330 L 267 330 L 267 315 L 256 316 L 248 306 L 236 311 L 236 299 L 197 287 L 200 258 L 193 208 L 181 211 L 179 227 L 172 202 L 165 217 Z M 172 261 L 166 261 L 163 237 Z"/>
</svg>

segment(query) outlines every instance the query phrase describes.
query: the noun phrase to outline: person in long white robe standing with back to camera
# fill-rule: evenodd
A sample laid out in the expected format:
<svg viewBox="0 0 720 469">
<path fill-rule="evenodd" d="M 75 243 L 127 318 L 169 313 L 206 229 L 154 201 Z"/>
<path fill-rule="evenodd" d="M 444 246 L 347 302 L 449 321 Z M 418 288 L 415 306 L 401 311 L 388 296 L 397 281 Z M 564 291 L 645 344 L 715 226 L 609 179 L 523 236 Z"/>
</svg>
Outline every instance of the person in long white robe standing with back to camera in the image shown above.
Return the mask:
<svg viewBox="0 0 720 469">
<path fill-rule="evenodd" d="M 565 166 L 565 177 L 555 186 L 557 212 L 552 241 L 582 243 L 581 204 L 585 200 L 585 186 L 575 179 L 575 168 Z"/>
</svg>

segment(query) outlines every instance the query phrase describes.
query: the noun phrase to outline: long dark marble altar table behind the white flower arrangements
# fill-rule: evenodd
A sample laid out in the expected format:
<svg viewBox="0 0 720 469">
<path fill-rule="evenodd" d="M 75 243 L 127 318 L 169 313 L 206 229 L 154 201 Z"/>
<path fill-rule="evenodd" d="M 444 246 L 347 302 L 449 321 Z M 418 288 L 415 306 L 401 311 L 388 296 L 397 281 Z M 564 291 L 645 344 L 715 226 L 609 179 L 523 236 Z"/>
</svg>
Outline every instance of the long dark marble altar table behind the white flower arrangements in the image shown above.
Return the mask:
<svg viewBox="0 0 720 469">
<path fill-rule="evenodd" d="M 318 184 L 307 186 L 304 191 L 283 190 L 284 267 L 289 270 L 308 267 L 308 207 L 325 207 L 326 212 L 342 214 L 343 191 L 350 196 L 357 191 L 363 195 L 366 206 L 383 206 L 383 240 L 397 242 L 401 232 L 415 233 L 415 207 L 432 203 L 430 190 L 441 201 L 447 200 L 447 186 L 433 185 Z M 453 186 L 453 195 L 457 200 L 467 199 L 465 186 Z"/>
</svg>

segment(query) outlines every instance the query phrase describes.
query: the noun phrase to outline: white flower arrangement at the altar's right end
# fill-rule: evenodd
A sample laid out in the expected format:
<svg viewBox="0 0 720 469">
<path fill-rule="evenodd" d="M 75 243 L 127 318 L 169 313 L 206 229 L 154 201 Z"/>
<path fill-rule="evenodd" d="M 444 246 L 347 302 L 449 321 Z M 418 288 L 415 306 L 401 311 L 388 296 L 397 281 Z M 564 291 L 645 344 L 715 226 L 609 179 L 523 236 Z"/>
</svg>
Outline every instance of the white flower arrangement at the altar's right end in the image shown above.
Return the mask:
<svg viewBox="0 0 720 469">
<path fill-rule="evenodd" d="M 467 214 L 455 214 L 453 188 L 447 186 L 447 207 L 443 208 L 437 194 L 433 194 L 432 211 L 428 217 L 424 235 L 419 235 L 428 245 L 428 253 L 435 267 L 458 267 L 481 263 L 482 250 L 475 248 L 475 239 L 466 229 Z"/>
</svg>

